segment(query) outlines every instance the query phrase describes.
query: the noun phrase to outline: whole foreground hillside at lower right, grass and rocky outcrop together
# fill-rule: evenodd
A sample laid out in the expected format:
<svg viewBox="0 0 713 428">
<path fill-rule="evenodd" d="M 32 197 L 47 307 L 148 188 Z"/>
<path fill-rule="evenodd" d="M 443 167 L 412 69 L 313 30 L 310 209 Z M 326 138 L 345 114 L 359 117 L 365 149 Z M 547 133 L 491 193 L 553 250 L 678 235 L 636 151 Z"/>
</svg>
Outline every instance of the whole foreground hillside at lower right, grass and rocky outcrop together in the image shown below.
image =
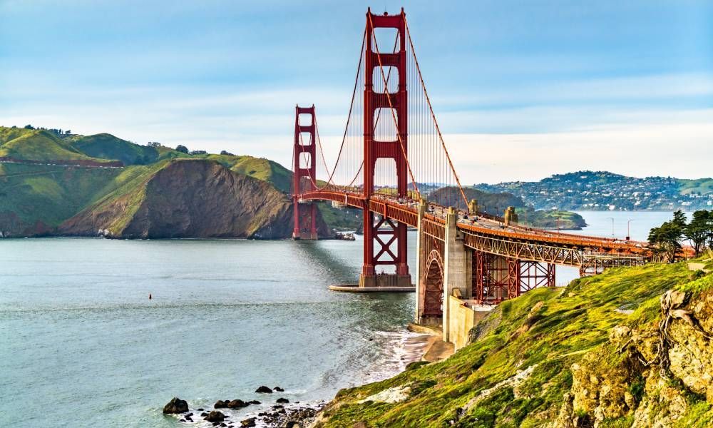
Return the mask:
<svg viewBox="0 0 713 428">
<path fill-rule="evenodd" d="M 713 385 L 700 374 L 713 370 L 713 275 L 702 275 L 646 265 L 530 291 L 447 360 L 343 389 L 317 427 L 710 427 Z M 661 309 L 667 290 L 681 293 L 677 312 Z"/>
</svg>

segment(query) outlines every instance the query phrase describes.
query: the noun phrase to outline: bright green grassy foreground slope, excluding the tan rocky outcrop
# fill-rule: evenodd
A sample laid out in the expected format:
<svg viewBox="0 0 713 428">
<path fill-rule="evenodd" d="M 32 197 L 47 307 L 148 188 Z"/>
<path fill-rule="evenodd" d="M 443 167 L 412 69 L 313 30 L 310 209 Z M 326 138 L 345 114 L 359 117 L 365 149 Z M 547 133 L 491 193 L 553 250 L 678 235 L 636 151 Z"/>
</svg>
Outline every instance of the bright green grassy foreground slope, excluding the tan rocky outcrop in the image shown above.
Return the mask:
<svg viewBox="0 0 713 428">
<path fill-rule="evenodd" d="M 359 426 L 365 428 L 533 427 L 552 422 L 563 394 L 572 386 L 570 367 L 587 352 L 600 348 L 612 327 L 622 322 L 657 322 L 659 296 L 665 290 L 695 288 L 700 292 L 713 288 L 713 275 L 694 282 L 694 287 L 690 275 L 684 263 L 647 265 L 575 280 L 566 290 L 540 288 L 528 292 L 494 310 L 474 329 L 480 330 L 480 338 L 448 360 L 340 391 L 337 404 L 327 410 L 329 421 L 325 426 L 354 427 L 363 421 L 365 424 Z M 625 315 L 617 308 L 635 312 Z M 518 387 L 517 397 L 512 387 L 496 389 L 462 414 L 458 422 L 450 423 L 470 399 L 532 366 L 535 369 Z M 411 386 L 405 402 L 356 404 L 359 399 L 399 385 Z M 688 418 L 713 422 L 710 404 L 700 400 L 690 404 Z"/>
</svg>

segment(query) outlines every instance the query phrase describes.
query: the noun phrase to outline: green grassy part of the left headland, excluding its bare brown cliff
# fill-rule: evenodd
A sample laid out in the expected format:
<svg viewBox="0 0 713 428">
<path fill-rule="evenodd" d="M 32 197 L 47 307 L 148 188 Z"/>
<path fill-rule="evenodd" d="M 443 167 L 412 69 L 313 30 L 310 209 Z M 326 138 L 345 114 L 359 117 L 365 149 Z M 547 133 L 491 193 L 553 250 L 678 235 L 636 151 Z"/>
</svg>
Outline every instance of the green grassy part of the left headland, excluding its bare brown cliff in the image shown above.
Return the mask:
<svg viewBox="0 0 713 428">
<path fill-rule="evenodd" d="M 53 233 L 86 208 L 121 200 L 131 218 L 143 198 L 143 183 L 174 159 L 216 161 L 240 175 L 271 183 L 288 193 L 292 172 L 279 163 L 252 156 L 182 153 L 165 146 L 140 146 L 108 133 L 80 136 L 53 130 L 0 127 L 0 156 L 36 163 L 0 163 L 0 233 L 14 236 Z M 89 161 L 82 166 L 43 161 Z M 120 161 L 123 168 L 96 168 Z M 168 190 L 168 189 L 167 189 Z M 115 204 L 116 205 L 116 204 Z M 349 215 L 321 204 L 331 227 L 349 223 Z M 355 223 L 354 220 L 351 223 Z M 120 225 L 116 224 L 120 230 Z"/>
</svg>

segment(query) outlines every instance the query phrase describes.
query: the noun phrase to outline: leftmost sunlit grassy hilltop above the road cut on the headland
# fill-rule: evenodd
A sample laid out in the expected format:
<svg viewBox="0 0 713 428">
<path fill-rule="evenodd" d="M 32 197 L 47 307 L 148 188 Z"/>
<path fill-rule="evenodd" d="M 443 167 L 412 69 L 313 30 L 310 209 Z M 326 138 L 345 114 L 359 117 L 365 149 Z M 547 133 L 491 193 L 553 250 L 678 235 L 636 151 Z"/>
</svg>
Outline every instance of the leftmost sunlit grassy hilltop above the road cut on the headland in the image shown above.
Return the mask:
<svg viewBox="0 0 713 428">
<path fill-rule="evenodd" d="M 81 153 L 48 131 L 5 127 L 0 127 L 0 156 L 26 161 L 103 161 Z"/>
</svg>

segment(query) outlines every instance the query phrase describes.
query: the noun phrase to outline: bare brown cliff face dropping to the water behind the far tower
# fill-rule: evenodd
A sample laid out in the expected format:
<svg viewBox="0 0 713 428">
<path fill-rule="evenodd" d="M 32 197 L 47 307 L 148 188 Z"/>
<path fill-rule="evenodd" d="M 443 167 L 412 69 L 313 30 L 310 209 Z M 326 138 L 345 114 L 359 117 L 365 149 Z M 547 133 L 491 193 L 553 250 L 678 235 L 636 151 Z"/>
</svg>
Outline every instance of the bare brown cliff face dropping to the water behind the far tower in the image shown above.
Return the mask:
<svg viewBox="0 0 713 428">
<path fill-rule="evenodd" d="M 329 228 L 317 219 L 320 236 Z M 114 238 L 289 238 L 292 203 L 270 183 L 213 161 L 173 161 L 116 197 L 83 210 L 62 235 Z"/>
</svg>

